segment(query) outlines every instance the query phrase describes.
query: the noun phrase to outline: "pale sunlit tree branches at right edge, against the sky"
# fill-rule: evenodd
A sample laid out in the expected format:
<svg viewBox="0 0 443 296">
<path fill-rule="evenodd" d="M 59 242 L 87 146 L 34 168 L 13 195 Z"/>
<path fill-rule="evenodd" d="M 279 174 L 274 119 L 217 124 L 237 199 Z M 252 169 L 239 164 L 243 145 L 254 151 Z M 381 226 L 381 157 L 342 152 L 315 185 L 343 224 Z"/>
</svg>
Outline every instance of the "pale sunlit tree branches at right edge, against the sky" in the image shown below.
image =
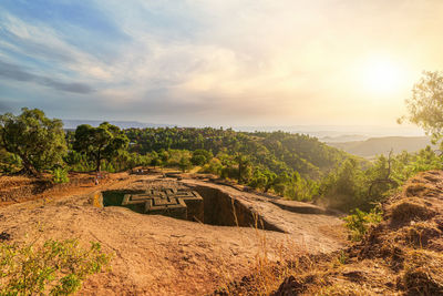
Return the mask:
<svg viewBox="0 0 443 296">
<path fill-rule="evenodd" d="M 408 120 L 431 134 L 436 142 L 443 136 L 443 73 L 423 72 L 421 80 L 412 89 L 412 98 L 406 100 Z"/>
</svg>

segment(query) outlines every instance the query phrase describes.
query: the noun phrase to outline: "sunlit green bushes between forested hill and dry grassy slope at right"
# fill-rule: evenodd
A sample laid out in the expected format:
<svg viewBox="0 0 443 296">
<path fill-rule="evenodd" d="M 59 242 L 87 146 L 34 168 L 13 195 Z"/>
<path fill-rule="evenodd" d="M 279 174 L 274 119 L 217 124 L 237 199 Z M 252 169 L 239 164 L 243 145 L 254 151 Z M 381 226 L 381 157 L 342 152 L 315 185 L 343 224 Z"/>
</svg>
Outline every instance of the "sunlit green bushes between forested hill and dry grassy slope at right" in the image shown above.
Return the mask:
<svg viewBox="0 0 443 296">
<path fill-rule="evenodd" d="M 319 194 L 330 207 L 346 212 L 356 207 L 370 211 L 411 176 L 423 171 L 440 170 L 442 164 L 442 157 L 430 146 L 418 153 L 402 152 L 390 160 L 380 155 L 369 166 L 349 159 L 320 182 Z M 387 178 L 392 182 L 377 182 Z M 369 192 L 371 185 L 372 192 Z"/>
</svg>

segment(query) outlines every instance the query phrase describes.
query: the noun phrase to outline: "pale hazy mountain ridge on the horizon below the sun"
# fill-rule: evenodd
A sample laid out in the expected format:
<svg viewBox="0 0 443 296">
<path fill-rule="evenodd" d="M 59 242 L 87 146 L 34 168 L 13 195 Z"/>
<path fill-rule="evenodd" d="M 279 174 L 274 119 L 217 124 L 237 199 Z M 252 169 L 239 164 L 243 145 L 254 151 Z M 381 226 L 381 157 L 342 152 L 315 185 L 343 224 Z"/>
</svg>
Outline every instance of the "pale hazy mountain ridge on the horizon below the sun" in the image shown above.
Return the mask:
<svg viewBox="0 0 443 296">
<path fill-rule="evenodd" d="M 383 136 L 370 137 L 364 141 L 351 142 L 327 142 L 328 145 L 342 149 L 350 154 L 363 157 L 373 157 L 375 155 L 388 155 L 391 149 L 393 153 L 402 151 L 416 152 L 431 145 L 429 136 Z"/>
</svg>

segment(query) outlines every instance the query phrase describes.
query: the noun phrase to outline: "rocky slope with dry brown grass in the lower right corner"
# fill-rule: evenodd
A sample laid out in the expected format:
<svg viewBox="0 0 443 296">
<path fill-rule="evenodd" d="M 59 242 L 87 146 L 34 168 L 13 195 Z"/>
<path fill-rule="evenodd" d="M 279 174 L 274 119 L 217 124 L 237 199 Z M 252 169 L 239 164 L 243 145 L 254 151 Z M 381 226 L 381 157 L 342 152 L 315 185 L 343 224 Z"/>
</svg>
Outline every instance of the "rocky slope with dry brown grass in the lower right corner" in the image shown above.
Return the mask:
<svg viewBox="0 0 443 296">
<path fill-rule="evenodd" d="M 383 212 L 383 221 L 359 244 L 276 265 L 287 276 L 271 294 L 443 295 L 443 172 L 411 178 Z M 258 293 L 255 280 L 262 277 L 245 279 L 234 293 Z"/>
</svg>

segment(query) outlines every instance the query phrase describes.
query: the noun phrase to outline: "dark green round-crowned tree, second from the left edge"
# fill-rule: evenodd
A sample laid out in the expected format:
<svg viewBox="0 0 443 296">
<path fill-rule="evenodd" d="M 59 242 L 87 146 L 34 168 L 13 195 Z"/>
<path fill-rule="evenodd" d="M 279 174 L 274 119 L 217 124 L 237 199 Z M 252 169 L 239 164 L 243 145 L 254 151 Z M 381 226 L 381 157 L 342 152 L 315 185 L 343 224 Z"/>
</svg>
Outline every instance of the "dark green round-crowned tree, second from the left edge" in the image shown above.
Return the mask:
<svg viewBox="0 0 443 296">
<path fill-rule="evenodd" d="M 73 147 L 84 153 L 95 163 L 100 172 L 102 160 L 109 162 L 127 149 L 130 140 L 119 126 L 103 122 L 97 127 L 89 124 L 79 125 L 75 130 Z"/>
</svg>

